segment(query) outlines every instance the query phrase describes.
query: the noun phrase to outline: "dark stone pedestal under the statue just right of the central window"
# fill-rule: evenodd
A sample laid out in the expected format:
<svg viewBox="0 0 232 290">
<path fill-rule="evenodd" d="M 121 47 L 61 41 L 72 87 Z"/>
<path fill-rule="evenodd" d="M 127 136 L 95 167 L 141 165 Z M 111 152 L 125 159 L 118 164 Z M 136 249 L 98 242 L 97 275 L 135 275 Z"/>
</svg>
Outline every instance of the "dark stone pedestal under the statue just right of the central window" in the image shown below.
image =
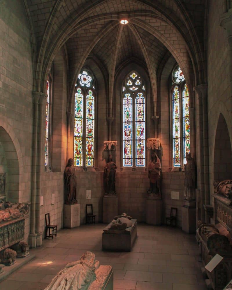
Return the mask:
<svg viewBox="0 0 232 290">
<path fill-rule="evenodd" d="M 162 213 L 162 200 L 146 200 L 146 223 L 160 225 Z"/>
</svg>

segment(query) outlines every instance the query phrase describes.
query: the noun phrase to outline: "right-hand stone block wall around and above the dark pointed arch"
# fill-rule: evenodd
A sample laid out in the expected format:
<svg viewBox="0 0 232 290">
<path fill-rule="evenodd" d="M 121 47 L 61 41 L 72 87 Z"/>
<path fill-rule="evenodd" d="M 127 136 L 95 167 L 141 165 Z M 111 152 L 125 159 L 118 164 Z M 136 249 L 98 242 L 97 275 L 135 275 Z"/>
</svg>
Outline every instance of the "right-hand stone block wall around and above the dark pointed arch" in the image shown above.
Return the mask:
<svg viewBox="0 0 232 290">
<path fill-rule="evenodd" d="M 231 134 L 231 96 L 229 87 L 229 54 L 226 30 L 220 26 L 223 1 L 209 2 L 207 74 L 208 74 L 208 119 L 209 119 L 209 184 L 213 192 L 214 146 L 220 113 Z M 221 140 L 223 144 L 224 139 Z M 231 135 L 230 135 L 231 142 Z M 217 162 L 217 160 L 215 160 Z M 211 203 L 213 199 L 211 196 Z"/>
</svg>

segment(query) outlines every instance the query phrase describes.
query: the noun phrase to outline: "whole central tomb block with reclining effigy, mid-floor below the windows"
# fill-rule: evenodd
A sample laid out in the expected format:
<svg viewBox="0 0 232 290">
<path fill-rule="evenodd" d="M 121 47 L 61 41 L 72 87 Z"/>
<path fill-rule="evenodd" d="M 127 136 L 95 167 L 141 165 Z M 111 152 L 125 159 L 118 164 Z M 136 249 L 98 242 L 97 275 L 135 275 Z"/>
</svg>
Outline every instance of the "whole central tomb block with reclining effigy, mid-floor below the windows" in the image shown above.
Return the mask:
<svg viewBox="0 0 232 290">
<path fill-rule="evenodd" d="M 130 252 L 137 237 L 137 220 L 126 213 L 118 215 L 106 226 L 102 233 L 104 251 Z"/>
</svg>

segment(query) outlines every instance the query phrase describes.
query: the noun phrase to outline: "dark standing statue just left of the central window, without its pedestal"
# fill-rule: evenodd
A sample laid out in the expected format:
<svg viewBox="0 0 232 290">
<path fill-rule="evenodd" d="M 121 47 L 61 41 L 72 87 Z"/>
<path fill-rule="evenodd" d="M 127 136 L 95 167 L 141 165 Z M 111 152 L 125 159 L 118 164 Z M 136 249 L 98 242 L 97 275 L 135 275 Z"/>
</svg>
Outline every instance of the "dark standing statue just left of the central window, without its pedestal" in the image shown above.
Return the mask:
<svg viewBox="0 0 232 290">
<path fill-rule="evenodd" d="M 112 154 L 109 155 L 108 163 L 104 168 L 104 190 L 105 194 L 116 194 L 115 180 L 116 180 L 116 164 L 112 161 Z"/>
</svg>

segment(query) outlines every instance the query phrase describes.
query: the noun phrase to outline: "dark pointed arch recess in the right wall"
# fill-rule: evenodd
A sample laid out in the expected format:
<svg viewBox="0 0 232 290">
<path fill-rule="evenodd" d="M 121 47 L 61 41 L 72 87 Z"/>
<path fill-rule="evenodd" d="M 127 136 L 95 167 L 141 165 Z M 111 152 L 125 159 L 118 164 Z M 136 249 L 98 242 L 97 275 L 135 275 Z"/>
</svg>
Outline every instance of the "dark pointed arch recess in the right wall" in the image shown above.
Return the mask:
<svg viewBox="0 0 232 290">
<path fill-rule="evenodd" d="M 222 113 L 218 118 L 215 135 L 213 179 L 225 180 L 232 177 L 232 151 L 226 120 Z"/>
</svg>

